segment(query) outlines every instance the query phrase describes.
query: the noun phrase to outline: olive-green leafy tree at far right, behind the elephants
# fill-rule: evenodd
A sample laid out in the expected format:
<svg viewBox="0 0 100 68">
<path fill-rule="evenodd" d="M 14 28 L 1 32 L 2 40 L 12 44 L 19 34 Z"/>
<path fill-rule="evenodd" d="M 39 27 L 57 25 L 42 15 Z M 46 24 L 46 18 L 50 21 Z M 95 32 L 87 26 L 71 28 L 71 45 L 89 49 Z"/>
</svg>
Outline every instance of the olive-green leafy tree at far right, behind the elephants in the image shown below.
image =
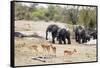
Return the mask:
<svg viewBox="0 0 100 68">
<path fill-rule="evenodd" d="M 80 10 L 79 22 L 85 27 L 96 26 L 96 9 L 92 7 L 83 7 Z M 94 24 L 94 25 L 93 25 Z"/>
</svg>

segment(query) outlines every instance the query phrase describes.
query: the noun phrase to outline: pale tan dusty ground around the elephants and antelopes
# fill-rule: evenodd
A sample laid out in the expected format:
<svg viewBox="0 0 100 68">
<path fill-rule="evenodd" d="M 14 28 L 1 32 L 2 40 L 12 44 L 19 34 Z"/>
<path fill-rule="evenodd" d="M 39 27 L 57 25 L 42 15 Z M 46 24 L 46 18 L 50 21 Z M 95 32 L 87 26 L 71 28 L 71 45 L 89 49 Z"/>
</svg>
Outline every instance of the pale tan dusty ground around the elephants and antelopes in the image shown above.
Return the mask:
<svg viewBox="0 0 100 68">
<path fill-rule="evenodd" d="M 87 62 L 87 61 L 96 61 L 96 45 L 84 45 L 78 44 L 74 39 L 71 39 L 71 44 L 52 44 L 56 47 L 56 56 L 55 53 L 50 49 L 49 52 L 44 51 L 41 47 L 41 44 L 49 44 L 50 42 L 45 40 L 45 29 L 49 24 L 53 22 L 45 23 L 41 22 L 32 22 L 32 21 L 16 21 L 15 22 L 15 31 L 23 33 L 37 33 L 43 38 L 36 37 L 24 37 L 24 38 L 15 38 L 15 65 L 39 65 L 39 64 L 54 64 L 54 63 L 72 63 L 72 62 Z M 56 23 L 63 27 L 62 23 Z M 67 25 L 67 27 L 69 27 Z M 70 27 L 69 27 L 70 28 Z M 67 40 L 66 40 L 67 41 Z M 37 50 L 32 48 L 36 45 Z M 64 51 L 70 51 L 72 54 L 67 53 L 64 55 Z M 73 52 L 76 50 L 76 52 Z M 43 59 L 46 62 L 39 60 L 34 60 L 32 58 L 39 56 L 49 56 L 47 59 Z"/>
</svg>

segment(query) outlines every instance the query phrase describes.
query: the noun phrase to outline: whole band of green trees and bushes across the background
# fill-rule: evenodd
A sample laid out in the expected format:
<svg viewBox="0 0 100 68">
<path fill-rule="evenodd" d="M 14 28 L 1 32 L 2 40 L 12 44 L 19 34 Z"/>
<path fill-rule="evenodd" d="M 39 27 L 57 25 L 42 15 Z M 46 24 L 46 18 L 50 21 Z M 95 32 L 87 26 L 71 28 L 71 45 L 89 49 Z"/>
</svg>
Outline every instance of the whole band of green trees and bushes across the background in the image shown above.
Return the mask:
<svg viewBox="0 0 100 68">
<path fill-rule="evenodd" d="M 21 3 L 15 4 L 15 20 L 33 20 L 33 21 L 54 21 L 68 23 L 72 25 L 80 24 L 96 27 L 96 8 L 87 6 L 70 5 L 47 5 L 38 6 L 31 4 L 26 6 Z"/>
</svg>

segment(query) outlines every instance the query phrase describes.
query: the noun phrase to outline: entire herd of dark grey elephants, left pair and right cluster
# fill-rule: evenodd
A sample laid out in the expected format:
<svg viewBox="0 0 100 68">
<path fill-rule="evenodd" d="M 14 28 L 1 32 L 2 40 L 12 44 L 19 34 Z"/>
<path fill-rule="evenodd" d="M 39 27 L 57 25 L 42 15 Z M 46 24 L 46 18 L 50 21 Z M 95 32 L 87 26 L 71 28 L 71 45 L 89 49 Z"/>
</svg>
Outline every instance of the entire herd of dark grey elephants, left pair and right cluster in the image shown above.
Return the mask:
<svg viewBox="0 0 100 68">
<path fill-rule="evenodd" d="M 68 44 L 71 44 L 70 31 L 65 28 L 60 28 L 59 26 L 52 24 L 46 29 L 46 40 L 48 40 L 48 32 L 52 34 L 52 43 L 55 43 L 55 39 L 59 44 L 66 44 L 66 39 Z M 74 28 L 75 41 L 79 44 L 86 43 L 90 41 L 91 38 L 97 39 L 97 31 L 90 28 L 83 28 L 82 26 L 76 26 Z"/>
</svg>

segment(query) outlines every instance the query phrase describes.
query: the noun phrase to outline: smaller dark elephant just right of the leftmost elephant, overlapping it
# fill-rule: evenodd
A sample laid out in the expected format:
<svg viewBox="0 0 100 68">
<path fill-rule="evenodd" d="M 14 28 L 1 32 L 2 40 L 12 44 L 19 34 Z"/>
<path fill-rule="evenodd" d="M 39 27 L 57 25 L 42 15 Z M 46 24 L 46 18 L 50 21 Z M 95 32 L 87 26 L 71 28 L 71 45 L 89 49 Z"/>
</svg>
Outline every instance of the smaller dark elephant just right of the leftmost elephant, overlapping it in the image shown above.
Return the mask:
<svg viewBox="0 0 100 68">
<path fill-rule="evenodd" d="M 59 44 L 62 44 L 62 42 L 66 44 L 66 38 L 68 40 L 68 44 L 71 44 L 70 32 L 66 30 L 65 28 L 59 29 L 58 36 L 57 36 L 57 40 L 59 41 Z"/>
</svg>

